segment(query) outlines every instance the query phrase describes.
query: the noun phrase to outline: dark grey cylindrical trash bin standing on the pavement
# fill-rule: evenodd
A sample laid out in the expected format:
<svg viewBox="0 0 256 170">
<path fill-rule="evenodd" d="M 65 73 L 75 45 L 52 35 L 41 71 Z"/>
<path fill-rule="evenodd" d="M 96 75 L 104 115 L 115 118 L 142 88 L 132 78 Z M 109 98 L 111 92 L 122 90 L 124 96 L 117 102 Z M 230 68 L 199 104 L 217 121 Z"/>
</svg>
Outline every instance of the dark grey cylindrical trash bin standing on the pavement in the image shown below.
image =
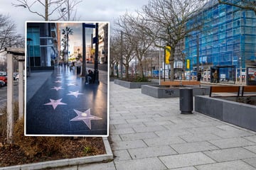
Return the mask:
<svg viewBox="0 0 256 170">
<path fill-rule="evenodd" d="M 193 114 L 193 89 L 180 89 L 181 114 Z"/>
</svg>

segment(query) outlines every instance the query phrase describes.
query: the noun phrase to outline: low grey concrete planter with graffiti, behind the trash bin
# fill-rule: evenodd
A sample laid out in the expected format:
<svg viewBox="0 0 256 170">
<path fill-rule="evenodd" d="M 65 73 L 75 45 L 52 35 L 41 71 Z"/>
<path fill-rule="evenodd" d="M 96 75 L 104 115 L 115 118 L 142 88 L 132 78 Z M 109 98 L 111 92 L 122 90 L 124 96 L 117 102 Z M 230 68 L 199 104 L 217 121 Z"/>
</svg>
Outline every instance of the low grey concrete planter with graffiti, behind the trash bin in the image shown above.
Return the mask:
<svg viewBox="0 0 256 170">
<path fill-rule="evenodd" d="M 148 96 L 152 96 L 154 98 L 173 98 L 179 97 L 179 90 L 181 88 L 192 88 L 193 96 L 196 95 L 209 95 L 209 88 L 198 87 L 198 86 L 177 86 L 177 87 L 169 87 L 164 85 L 143 85 L 142 86 L 142 94 L 146 94 Z"/>
</svg>

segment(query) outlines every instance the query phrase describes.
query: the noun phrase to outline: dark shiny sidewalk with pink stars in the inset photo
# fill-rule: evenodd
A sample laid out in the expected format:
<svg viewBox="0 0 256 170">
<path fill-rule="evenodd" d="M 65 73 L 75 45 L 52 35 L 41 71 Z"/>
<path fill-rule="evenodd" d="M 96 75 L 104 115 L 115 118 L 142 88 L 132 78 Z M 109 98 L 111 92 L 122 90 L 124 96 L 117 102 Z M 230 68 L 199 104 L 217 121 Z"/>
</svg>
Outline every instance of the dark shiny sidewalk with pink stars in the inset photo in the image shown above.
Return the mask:
<svg viewBox="0 0 256 170">
<path fill-rule="evenodd" d="M 107 72 L 100 77 L 107 79 Z M 56 67 L 27 102 L 26 134 L 107 135 L 107 81 L 85 84 L 73 69 Z"/>
</svg>

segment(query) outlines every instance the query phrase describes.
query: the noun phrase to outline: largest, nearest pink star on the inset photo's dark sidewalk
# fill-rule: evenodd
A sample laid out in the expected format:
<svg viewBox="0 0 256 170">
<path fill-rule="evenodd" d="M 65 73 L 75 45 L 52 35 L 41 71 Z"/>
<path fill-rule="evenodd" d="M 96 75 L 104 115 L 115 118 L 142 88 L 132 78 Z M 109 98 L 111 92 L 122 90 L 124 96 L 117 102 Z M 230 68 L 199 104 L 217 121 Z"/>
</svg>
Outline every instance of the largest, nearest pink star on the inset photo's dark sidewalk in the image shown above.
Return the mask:
<svg viewBox="0 0 256 170">
<path fill-rule="evenodd" d="M 95 115 L 91 115 L 90 108 L 87 109 L 87 111 L 85 111 L 85 112 L 76 111 L 75 109 L 74 109 L 74 111 L 75 111 L 75 113 L 78 114 L 78 116 L 71 119 L 70 121 L 80 121 L 80 120 L 82 120 L 90 130 L 92 130 L 91 120 L 101 120 L 102 119 L 102 118 L 97 117 Z"/>
</svg>

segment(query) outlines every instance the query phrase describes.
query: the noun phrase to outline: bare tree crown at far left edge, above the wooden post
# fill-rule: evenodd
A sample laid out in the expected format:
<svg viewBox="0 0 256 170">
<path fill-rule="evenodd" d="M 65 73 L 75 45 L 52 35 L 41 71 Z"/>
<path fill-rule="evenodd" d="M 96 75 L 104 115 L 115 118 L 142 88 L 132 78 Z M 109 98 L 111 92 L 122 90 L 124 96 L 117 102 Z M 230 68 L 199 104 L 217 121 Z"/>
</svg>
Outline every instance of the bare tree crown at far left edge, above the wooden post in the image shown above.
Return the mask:
<svg viewBox="0 0 256 170">
<path fill-rule="evenodd" d="M 16 34 L 14 21 L 0 14 L 0 52 L 4 52 L 5 47 L 24 47 L 24 38 Z"/>
</svg>

